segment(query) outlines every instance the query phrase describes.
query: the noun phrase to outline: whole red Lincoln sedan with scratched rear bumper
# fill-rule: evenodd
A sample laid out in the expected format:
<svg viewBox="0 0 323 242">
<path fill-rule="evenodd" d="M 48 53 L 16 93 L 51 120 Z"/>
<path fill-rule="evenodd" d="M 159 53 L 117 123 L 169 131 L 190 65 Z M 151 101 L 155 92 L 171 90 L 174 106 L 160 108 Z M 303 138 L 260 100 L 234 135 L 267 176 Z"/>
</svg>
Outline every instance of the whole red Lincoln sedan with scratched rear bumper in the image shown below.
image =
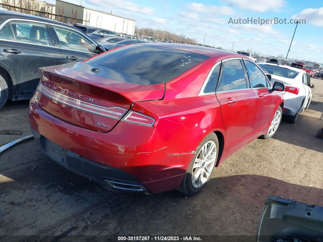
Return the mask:
<svg viewBox="0 0 323 242">
<path fill-rule="evenodd" d="M 42 151 L 115 191 L 199 192 L 214 167 L 281 121 L 284 85 L 249 58 L 143 43 L 41 68 L 29 122 Z"/>
</svg>

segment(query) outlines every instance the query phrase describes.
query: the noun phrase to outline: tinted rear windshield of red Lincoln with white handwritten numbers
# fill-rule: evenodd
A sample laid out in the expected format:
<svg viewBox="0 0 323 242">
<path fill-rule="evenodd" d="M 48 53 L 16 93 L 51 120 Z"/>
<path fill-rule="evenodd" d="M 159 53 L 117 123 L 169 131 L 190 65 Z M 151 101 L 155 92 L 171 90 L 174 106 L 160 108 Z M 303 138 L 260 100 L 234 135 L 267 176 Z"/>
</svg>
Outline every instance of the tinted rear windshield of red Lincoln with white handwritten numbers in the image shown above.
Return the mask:
<svg viewBox="0 0 323 242">
<path fill-rule="evenodd" d="M 167 82 L 208 58 L 187 51 L 139 44 L 115 49 L 89 59 L 84 64 L 100 69 L 96 73 L 89 72 L 93 75 L 154 85 Z"/>
</svg>

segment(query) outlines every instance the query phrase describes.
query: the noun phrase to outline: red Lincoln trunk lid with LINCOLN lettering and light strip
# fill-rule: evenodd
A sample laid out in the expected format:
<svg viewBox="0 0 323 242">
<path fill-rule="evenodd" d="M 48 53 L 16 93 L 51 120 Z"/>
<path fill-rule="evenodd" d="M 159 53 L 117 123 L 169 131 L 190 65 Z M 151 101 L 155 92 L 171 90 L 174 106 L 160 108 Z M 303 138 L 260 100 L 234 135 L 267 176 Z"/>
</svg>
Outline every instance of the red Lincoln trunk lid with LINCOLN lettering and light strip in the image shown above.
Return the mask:
<svg viewBox="0 0 323 242">
<path fill-rule="evenodd" d="M 135 101 L 162 99 L 164 83 L 126 83 L 69 68 L 42 68 L 42 78 L 33 97 L 52 115 L 77 126 L 110 131 Z M 71 74 L 73 72 L 73 74 Z"/>
</svg>

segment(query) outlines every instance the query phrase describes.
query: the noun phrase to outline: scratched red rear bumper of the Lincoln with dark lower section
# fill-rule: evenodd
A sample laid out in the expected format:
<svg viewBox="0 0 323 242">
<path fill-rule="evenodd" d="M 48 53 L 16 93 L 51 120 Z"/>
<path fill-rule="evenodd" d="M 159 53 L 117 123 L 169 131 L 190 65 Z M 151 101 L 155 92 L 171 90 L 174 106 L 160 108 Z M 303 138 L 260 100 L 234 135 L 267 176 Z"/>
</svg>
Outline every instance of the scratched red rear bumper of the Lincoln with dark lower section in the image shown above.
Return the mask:
<svg viewBox="0 0 323 242">
<path fill-rule="evenodd" d="M 176 189 L 194 156 L 166 153 L 154 127 L 120 121 L 108 133 L 95 132 L 63 121 L 33 101 L 28 116 L 44 153 L 112 190 L 160 193 Z M 49 142 L 64 152 L 55 155 L 48 149 Z"/>
</svg>

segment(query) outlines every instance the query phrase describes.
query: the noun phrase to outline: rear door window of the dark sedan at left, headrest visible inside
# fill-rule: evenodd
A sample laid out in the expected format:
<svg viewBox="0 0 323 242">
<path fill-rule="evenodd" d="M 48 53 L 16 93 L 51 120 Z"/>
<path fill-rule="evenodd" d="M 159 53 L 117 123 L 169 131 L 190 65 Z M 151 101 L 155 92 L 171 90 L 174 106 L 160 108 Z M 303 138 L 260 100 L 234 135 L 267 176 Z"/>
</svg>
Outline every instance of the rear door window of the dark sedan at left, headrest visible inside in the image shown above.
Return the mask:
<svg viewBox="0 0 323 242">
<path fill-rule="evenodd" d="M 17 41 L 38 45 L 53 45 L 46 24 L 29 21 L 11 21 L 10 23 Z"/>
</svg>

